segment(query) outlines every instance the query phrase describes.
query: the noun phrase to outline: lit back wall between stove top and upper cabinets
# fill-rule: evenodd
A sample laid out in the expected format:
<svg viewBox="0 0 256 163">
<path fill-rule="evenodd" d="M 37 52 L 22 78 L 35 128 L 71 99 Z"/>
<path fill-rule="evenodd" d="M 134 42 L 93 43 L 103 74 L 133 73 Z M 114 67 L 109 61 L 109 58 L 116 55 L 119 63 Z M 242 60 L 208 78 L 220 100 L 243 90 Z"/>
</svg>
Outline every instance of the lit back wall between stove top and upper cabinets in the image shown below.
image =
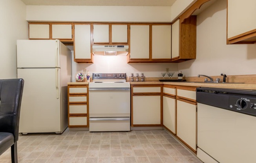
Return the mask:
<svg viewBox="0 0 256 163">
<path fill-rule="evenodd" d="M 72 52 L 73 47 L 68 46 Z M 126 73 L 130 76 L 131 73 L 143 72 L 146 77 L 162 77 L 161 72 L 165 72 L 169 68 L 170 72 L 176 72 L 174 77 L 177 77 L 177 63 L 127 63 L 126 56 L 94 56 L 94 63 L 76 63 L 72 61 L 72 82 L 75 82 L 75 73 L 84 72 L 84 68 L 92 73 Z M 168 77 L 167 74 L 165 77 Z"/>
</svg>

